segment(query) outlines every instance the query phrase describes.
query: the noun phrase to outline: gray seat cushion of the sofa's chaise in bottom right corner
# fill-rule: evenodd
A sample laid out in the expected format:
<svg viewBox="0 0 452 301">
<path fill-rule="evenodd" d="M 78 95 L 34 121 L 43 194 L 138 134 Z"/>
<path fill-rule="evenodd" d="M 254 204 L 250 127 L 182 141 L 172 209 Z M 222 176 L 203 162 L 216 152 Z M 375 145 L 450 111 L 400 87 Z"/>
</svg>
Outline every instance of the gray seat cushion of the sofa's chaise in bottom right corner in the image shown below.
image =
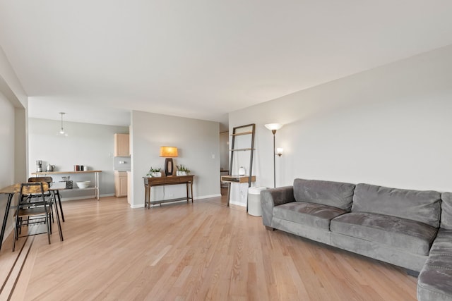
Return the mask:
<svg viewBox="0 0 452 301">
<path fill-rule="evenodd" d="M 439 229 L 417 278 L 419 300 L 452 300 L 452 230 Z"/>
</svg>

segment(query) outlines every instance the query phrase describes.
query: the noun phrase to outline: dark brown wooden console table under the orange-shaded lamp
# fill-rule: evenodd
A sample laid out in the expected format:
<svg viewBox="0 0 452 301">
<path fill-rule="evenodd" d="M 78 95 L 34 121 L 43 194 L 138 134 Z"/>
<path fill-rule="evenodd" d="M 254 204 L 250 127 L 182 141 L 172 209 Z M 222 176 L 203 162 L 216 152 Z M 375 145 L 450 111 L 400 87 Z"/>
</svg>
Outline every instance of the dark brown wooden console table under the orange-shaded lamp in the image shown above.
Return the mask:
<svg viewBox="0 0 452 301">
<path fill-rule="evenodd" d="M 188 203 L 191 199 L 193 203 L 193 175 L 190 176 L 169 176 L 169 177 L 143 177 L 144 178 L 144 207 L 150 208 L 151 204 L 162 204 L 168 202 L 178 202 L 186 199 Z M 186 197 L 178 197 L 176 199 L 161 199 L 150 201 L 150 188 L 152 186 L 165 186 L 165 185 L 186 185 Z M 190 192 L 189 192 L 190 190 Z"/>
</svg>

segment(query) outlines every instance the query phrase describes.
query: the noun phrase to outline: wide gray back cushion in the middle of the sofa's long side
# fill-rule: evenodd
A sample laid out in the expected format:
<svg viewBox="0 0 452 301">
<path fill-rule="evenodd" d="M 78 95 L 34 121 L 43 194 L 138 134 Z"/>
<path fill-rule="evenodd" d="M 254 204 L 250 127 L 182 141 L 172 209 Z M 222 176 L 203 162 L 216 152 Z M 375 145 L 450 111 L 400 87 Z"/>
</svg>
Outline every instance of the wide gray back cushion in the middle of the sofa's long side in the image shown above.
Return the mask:
<svg viewBox="0 0 452 301">
<path fill-rule="evenodd" d="M 398 216 L 438 228 L 441 193 L 358 184 L 352 211 Z"/>
</svg>

